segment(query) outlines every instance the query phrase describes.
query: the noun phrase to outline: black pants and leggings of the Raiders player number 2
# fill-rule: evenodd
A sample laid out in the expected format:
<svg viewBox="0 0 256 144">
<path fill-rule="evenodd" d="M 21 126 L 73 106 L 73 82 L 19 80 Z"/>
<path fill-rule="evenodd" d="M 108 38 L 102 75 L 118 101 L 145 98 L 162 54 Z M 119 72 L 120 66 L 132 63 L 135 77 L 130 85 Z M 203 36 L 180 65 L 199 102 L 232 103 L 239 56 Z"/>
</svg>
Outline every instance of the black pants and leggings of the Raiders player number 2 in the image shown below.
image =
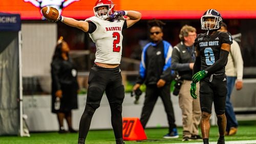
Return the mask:
<svg viewBox="0 0 256 144">
<path fill-rule="evenodd" d="M 111 123 L 115 138 L 122 138 L 122 103 L 124 86 L 120 68 L 103 68 L 94 65 L 90 70 L 86 108 L 80 119 L 79 139 L 85 139 L 95 110 L 100 106 L 105 91 L 111 108 Z M 102 118 L 104 121 L 104 118 Z"/>
</svg>

